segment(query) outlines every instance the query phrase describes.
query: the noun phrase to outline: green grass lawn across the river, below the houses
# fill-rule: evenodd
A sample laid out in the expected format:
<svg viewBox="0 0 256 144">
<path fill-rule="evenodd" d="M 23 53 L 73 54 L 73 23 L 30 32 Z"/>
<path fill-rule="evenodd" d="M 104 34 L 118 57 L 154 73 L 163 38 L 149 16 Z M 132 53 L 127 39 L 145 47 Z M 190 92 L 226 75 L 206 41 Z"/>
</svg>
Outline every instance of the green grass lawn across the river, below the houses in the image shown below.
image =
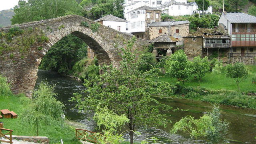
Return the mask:
<svg viewBox="0 0 256 144">
<path fill-rule="evenodd" d="M 256 92 L 256 85 L 252 84 L 252 75 L 256 74 L 256 66 L 248 65 L 249 75 L 248 78 L 242 81 L 240 89 L 242 92 Z M 159 80 L 164 82 L 169 82 L 174 84 L 176 78 L 171 78 L 169 76 L 160 77 Z M 212 74 L 209 72 L 202 78 L 199 83 L 198 80 L 194 80 L 194 75 L 190 77 L 190 81 L 185 82 L 184 86 L 201 86 L 212 90 L 238 90 L 235 81 L 232 78 L 226 78 L 225 73 L 222 74 Z"/>
</svg>

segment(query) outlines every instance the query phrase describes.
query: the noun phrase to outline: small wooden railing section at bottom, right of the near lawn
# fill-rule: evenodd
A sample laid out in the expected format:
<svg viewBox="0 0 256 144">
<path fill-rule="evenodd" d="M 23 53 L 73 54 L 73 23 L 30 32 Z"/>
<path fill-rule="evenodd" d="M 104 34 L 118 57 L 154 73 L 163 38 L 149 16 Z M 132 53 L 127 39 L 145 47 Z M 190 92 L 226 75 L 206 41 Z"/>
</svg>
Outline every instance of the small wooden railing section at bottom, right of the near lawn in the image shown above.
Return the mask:
<svg viewBox="0 0 256 144">
<path fill-rule="evenodd" d="M 78 140 L 85 140 L 88 142 L 98 143 L 95 134 L 96 132 L 76 128 L 76 138 Z"/>
</svg>

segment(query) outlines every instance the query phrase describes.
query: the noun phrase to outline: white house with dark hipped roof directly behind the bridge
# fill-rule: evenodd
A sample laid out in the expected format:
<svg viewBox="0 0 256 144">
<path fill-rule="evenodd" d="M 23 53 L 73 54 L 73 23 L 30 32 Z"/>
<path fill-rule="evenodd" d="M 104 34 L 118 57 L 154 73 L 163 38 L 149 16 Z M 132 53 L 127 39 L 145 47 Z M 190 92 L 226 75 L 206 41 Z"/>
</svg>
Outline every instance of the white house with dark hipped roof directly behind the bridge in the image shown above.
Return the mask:
<svg viewBox="0 0 256 144">
<path fill-rule="evenodd" d="M 119 32 L 127 32 L 127 33 L 130 32 L 130 23 L 128 20 L 118 18 L 111 14 L 104 16 L 102 18 L 99 18 L 98 20 L 95 20 L 94 22 L 99 22 L 100 24 L 103 24 L 104 26 L 108 26 L 110 28 L 118 30 Z"/>
</svg>

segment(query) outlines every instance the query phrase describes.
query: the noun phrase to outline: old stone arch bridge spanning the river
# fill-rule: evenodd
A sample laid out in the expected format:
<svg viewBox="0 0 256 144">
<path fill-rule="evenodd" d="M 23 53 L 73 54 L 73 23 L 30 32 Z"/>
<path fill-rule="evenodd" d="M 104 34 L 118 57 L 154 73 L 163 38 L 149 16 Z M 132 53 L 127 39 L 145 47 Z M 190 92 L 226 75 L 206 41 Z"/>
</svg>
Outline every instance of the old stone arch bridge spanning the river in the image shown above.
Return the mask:
<svg viewBox="0 0 256 144">
<path fill-rule="evenodd" d="M 44 20 L 43 22 L 37 21 L 16 25 L 22 29 L 39 28 L 43 30 L 49 41 L 43 46 L 40 45 L 43 47 L 42 50 L 32 46 L 23 59 L 0 59 L 0 74 L 8 78 L 14 93 L 25 93 L 27 96 L 31 96 L 36 84 L 38 66 L 42 58 L 50 50 L 51 46 L 69 34 L 74 34 L 84 40 L 94 51 L 99 64 L 113 64 L 118 67 L 121 60 L 120 56 L 118 56 L 120 47 L 124 47 L 124 41 L 129 40 L 132 36 L 101 24 L 97 32 L 92 32 L 90 27 L 81 26 L 81 22 L 87 22 L 89 26 L 95 23 L 82 16 L 70 15 Z M 8 32 L 11 27 L 13 26 L 0 28 L 0 31 Z M 49 30 L 49 28 L 52 30 Z M 144 46 L 148 45 L 149 43 L 146 40 L 137 39 L 134 48 L 143 50 Z M 18 52 L 16 55 L 19 55 Z M 10 54 L 2 54 L 2 58 L 4 57 L 10 57 Z"/>
</svg>

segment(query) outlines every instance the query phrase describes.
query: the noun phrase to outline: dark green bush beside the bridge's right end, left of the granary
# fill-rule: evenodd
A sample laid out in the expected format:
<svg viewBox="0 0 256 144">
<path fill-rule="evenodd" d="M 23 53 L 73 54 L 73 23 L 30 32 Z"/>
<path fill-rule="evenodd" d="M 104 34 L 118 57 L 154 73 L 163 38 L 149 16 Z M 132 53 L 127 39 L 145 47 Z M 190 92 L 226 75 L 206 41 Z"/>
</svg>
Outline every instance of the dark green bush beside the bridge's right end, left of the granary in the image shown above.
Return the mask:
<svg viewBox="0 0 256 144">
<path fill-rule="evenodd" d="M 143 72 L 150 70 L 152 67 L 156 66 L 156 56 L 150 52 L 141 54 L 138 58 L 139 69 Z"/>
</svg>

